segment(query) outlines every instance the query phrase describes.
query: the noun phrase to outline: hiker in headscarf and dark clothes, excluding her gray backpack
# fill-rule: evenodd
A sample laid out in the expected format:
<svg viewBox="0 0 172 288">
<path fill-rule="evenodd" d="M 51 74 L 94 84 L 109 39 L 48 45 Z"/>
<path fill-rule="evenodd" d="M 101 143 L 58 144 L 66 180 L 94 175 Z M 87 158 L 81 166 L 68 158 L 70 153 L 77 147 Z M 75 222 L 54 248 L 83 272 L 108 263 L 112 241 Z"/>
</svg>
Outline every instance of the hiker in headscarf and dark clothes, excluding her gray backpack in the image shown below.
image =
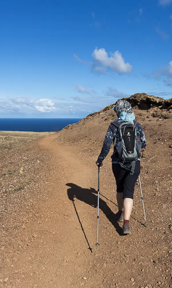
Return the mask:
<svg viewBox="0 0 172 288">
<path fill-rule="evenodd" d="M 119 126 L 125 122 L 133 124 L 136 129 L 138 141 L 141 142 L 141 148 L 144 149 L 146 147 L 146 141 L 142 126 L 135 121 L 133 109 L 128 101 L 119 100 L 113 110 L 116 112 L 118 119 L 112 122 L 107 130 L 103 147 L 96 161 L 96 165 L 99 166 L 99 164 L 102 164 L 103 160 L 109 153 L 111 144 L 113 142 L 114 153 L 111 156 L 112 171 L 116 180 L 116 198 L 118 202 L 118 212 L 115 214 L 115 217 L 119 222 L 124 222 L 123 234 L 130 234 L 130 216 L 133 208 L 134 187 L 140 174 L 140 157 L 131 162 L 126 162 L 125 160 L 122 161 L 119 159 L 119 154 L 116 148 L 116 139 Z"/>
</svg>

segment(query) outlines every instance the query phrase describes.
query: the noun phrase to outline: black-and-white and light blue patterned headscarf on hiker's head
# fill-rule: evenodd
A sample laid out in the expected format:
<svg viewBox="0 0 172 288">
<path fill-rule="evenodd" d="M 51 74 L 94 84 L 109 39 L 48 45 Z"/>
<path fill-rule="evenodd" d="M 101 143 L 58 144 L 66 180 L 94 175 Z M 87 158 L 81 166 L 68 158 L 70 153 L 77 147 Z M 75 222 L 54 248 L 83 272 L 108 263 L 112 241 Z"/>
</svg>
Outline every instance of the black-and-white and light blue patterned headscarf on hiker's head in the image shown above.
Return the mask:
<svg viewBox="0 0 172 288">
<path fill-rule="evenodd" d="M 113 107 L 112 109 L 116 112 L 118 119 L 122 119 L 123 121 L 133 123 L 135 115 L 131 107 L 131 104 L 128 101 L 119 100 L 116 103 L 116 106 Z"/>
</svg>

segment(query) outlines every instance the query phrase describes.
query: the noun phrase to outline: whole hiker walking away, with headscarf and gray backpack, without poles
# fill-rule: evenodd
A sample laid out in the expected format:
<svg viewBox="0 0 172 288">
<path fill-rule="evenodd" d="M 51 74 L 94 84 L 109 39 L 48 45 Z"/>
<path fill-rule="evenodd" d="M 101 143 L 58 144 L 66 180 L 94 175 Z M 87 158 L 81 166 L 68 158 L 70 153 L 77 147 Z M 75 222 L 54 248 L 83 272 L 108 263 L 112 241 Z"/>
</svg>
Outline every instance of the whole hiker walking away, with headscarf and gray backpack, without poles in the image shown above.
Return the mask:
<svg viewBox="0 0 172 288">
<path fill-rule="evenodd" d="M 124 222 L 123 234 L 130 234 L 134 187 L 140 174 L 140 150 L 144 151 L 146 141 L 142 126 L 135 121 L 132 106 L 128 101 L 119 100 L 112 109 L 116 112 L 118 119 L 112 122 L 107 130 L 96 165 L 102 164 L 113 141 L 112 171 L 116 180 L 118 203 L 118 212 L 115 214 L 115 218 L 119 222 Z M 125 131 L 128 132 L 125 133 Z M 123 134 L 119 134 L 120 132 L 123 132 Z M 121 135 L 124 136 L 123 143 Z M 135 148 L 131 148 L 132 144 Z M 131 159 L 130 156 L 133 158 Z"/>
</svg>

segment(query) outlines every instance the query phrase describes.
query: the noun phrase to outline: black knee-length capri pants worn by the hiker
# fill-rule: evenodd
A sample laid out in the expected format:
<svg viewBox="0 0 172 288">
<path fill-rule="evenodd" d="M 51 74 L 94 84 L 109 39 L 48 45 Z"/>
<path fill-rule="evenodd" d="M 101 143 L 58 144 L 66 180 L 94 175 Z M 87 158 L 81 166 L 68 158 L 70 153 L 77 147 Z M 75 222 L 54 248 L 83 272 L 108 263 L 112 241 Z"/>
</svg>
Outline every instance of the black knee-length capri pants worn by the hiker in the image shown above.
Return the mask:
<svg viewBox="0 0 172 288">
<path fill-rule="evenodd" d="M 112 171 L 116 180 L 116 192 L 123 193 L 124 198 L 134 197 L 134 187 L 138 176 L 140 174 L 140 161 L 136 161 L 136 166 L 134 169 L 134 174 L 130 174 L 130 171 L 122 168 L 120 164 L 112 163 Z"/>
</svg>

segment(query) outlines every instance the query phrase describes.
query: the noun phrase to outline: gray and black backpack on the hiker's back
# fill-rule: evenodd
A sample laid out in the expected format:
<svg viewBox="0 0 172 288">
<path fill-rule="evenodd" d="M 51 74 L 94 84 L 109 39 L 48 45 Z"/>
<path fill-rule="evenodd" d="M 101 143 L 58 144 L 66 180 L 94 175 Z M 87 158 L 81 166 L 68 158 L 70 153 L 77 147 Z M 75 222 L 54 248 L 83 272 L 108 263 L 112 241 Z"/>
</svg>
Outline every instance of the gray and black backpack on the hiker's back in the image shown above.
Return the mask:
<svg viewBox="0 0 172 288">
<path fill-rule="evenodd" d="M 115 160 L 119 162 L 121 167 L 130 170 L 131 174 L 134 173 L 136 160 L 140 158 L 140 150 L 142 147 L 140 134 L 137 134 L 135 127 L 136 123 L 137 121 L 134 121 L 133 124 L 130 122 L 112 122 L 112 124 L 118 128 L 114 141 L 114 146 L 117 151 L 117 158 Z M 125 166 L 125 163 L 127 163 L 127 166 Z"/>
</svg>

